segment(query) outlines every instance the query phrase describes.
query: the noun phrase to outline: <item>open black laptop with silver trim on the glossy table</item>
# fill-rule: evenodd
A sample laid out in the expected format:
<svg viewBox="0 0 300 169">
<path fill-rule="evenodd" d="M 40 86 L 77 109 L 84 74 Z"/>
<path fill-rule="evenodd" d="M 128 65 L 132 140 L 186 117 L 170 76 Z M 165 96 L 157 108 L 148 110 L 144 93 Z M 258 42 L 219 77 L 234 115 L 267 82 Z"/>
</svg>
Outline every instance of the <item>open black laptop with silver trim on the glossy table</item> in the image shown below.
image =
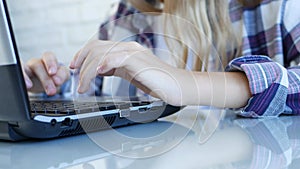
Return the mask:
<svg viewBox="0 0 300 169">
<path fill-rule="evenodd" d="M 139 97 L 30 98 L 5 0 L 0 1 L 0 139 L 50 139 L 155 121 L 180 110 Z"/>
</svg>

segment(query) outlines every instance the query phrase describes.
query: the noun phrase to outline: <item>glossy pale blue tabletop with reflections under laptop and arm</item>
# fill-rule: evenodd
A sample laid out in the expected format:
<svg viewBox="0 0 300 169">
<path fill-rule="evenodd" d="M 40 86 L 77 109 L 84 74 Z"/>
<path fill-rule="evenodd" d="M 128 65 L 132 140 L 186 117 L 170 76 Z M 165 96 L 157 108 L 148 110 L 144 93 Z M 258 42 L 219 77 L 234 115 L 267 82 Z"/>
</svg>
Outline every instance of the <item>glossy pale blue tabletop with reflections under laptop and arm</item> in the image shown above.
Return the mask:
<svg viewBox="0 0 300 169">
<path fill-rule="evenodd" d="M 3 169 L 300 168 L 300 116 L 247 119 L 187 107 L 159 121 L 78 136 L 0 142 Z"/>
</svg>

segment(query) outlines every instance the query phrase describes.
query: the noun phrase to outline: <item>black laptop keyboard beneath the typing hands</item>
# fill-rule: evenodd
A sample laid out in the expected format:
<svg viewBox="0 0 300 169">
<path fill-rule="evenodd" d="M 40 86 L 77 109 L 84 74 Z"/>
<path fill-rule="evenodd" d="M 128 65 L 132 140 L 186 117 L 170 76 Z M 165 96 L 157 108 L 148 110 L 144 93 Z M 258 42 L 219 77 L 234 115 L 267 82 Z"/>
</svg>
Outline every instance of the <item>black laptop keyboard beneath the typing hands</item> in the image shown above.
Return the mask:
<svg viewBox="0 0 300 169">
<path fill-rule="evenodd" d="M 72 101 L 31 101 L 31 113 L 43 115 L 74 115 L 131 106 L 144 106 L 151 102 L 72 102 Z"/>
</svg>

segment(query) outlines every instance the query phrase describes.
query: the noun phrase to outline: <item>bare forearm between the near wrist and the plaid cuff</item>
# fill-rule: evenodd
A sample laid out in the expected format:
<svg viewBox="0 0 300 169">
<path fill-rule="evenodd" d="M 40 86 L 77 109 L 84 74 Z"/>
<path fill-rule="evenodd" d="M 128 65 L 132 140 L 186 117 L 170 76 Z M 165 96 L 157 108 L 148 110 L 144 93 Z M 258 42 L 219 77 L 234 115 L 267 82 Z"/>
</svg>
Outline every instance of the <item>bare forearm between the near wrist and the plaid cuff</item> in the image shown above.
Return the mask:
<svg viewBox="0 0 300 169">
<path fill-rule="evenodd" d="M 248 80 L 242 72 L 182 73 L 179 81 L 183 82 L 183 105 L 240 108 L 251 97 Z"/>
</svg>

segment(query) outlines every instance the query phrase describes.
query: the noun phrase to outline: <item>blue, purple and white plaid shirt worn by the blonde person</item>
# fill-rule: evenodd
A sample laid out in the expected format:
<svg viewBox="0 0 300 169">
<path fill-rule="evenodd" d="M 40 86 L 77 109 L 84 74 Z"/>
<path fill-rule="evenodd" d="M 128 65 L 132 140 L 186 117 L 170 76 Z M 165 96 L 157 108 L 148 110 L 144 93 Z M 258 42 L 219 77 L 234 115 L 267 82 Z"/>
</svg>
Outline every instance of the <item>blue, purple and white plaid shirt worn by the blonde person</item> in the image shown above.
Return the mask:
<svg viewBox="0 0 300 169">
<path fill-rule="evenodd" d="M 243 56 L 232 60 L 226 71 L 245 72 L 252 93 L 240 111 L 242 116 L 300 114 L 300 66 L 287 68 L 300 57 L 298 1 L 263 0 L 257 7 L 245 8 L 230 0 L 233 25 L 244 22 Z M 152 23 L 146 15 L 134 18 L 135 13 L 139 11 L 121 1 L 116 13 L 101 25 L 99 39 L 137 41 L 154 49 L 158 42 L 151 33 Z"/>
</svg>

